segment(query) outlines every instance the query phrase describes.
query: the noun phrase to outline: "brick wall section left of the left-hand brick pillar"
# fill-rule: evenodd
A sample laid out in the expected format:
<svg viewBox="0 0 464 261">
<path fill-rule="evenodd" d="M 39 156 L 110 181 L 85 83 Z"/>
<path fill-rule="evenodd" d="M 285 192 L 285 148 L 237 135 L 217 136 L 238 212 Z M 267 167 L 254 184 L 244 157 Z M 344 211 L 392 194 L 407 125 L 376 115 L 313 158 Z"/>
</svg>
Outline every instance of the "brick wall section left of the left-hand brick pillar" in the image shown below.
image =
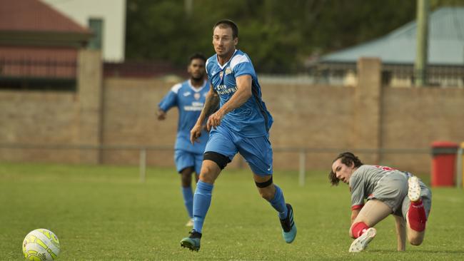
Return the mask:
<svg viewBox="0 0 464 261">
<path fill-rule="evenodd" d="M 0 91 L 0 143 L 74 144 L 79 136 L 79 102 L 74 93 Z M 78 163 L 79 151 L 0 147 L 0 160 Z"/>
</svg>

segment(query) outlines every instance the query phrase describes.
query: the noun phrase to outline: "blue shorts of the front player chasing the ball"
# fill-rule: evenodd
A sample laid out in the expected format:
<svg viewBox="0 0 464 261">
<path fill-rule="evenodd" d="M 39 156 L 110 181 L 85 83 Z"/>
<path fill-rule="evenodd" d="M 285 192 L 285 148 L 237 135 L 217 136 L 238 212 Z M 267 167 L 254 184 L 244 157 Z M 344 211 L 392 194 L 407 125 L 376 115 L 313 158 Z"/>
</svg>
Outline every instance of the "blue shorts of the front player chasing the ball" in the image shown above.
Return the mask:
<svg viewBox="0 0 464 261">
<path fill-rule="evenodd" d="M 272 175 L 272 148 L 267 136 L 247 138 L 237 135 L 227 127 L 211 129 L 205 152 L 213 151 L 230 160 L 240 153 L 256 175 Z"/>
</svg>

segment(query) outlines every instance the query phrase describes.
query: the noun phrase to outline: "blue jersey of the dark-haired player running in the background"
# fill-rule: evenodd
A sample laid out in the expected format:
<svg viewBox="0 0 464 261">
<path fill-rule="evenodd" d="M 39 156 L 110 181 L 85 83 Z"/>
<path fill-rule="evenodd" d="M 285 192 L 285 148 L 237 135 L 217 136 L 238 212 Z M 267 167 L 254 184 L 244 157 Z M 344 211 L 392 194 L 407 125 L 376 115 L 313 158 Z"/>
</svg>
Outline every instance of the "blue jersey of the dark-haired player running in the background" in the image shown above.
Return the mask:
<svg viewBox="0 0 464 261">
<path fill-rule="evenodd" d="M 199 143 L 192 145 L 190 131 L 195 126 L 201 110 L 203 110 L 208 91 L 208 81 L 205 81 L 203 86 L 198 89 L 193 88 L 189 80 L 184 81 L 173 86 L 171 91 L 158 104 L 163 111 L 168 111 L 174 106 L 178 107 L 177 139 L 174 147 L 176 150 L 186 150 L 191 153 L 204 152 L 206 141 L 208 141 L 208 133 L 202 131 L 201 137 L 198 138 Z"/>
</svg>

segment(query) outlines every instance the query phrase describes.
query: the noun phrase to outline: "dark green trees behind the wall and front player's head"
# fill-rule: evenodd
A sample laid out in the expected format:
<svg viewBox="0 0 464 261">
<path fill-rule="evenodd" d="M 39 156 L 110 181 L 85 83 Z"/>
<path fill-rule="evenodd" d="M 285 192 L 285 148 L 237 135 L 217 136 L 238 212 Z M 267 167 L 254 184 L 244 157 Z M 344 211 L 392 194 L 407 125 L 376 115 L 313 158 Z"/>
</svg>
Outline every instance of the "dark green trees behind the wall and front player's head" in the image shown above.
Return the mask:
<svg viewBox="0 0 464 261">
<path fill-rule="evenodd" d="M 221 19 L 238 24 L 238 48 L 260 73 L 294 73 L 308 57 L 360 44 L 415 19 L 409 0 L 128 0 L 126 57 L 186 66 L 196 51 L 210 56 L 212 26 Z M 463 5 L 432 0 L 431 9 Z"/>
</svg>

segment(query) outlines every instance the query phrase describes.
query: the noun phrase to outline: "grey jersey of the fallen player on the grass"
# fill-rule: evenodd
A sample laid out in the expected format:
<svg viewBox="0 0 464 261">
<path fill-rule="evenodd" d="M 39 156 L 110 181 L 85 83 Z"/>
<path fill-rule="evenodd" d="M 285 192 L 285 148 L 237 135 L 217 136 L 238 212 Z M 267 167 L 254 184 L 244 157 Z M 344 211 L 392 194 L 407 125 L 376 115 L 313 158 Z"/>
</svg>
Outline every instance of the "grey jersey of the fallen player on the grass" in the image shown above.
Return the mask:
<svg viewBox="0 0 464 261">
<path fill-rule="evenodd" d="M 361 165 L 350 177 L 351 209 L 363 208 L 364 200 L 371 198 L 380 180 L 389 175 L 407 176 L 400 170 L 379 165 Z M 408 184 L 404 184 L 407 186 Z"/>
</svg>

